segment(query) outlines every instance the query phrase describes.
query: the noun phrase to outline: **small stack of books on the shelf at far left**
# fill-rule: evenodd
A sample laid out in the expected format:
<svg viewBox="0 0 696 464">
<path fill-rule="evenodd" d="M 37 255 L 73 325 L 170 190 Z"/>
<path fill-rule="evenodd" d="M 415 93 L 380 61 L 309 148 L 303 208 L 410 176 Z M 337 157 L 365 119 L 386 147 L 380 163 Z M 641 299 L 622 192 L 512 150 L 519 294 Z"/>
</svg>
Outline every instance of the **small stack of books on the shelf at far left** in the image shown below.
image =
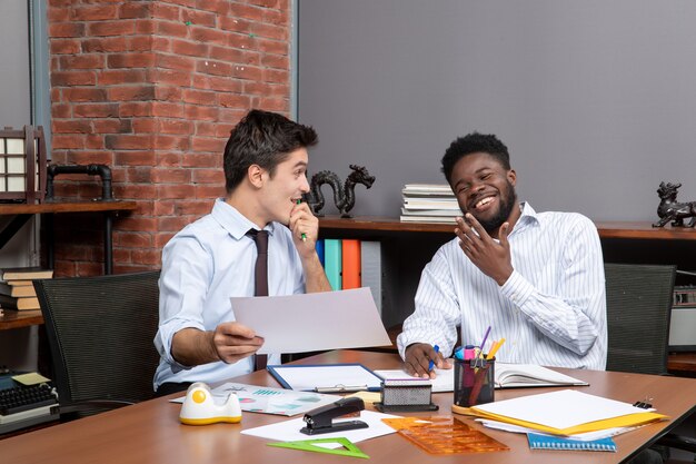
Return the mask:
<svg viewBox="0 0 696 464">
<path fill-rule="evenodd" d="M 53 277 L 53 270 L 40 267 L 4 268 L 0 273 L 0 308 L 2 309 L 41 309 L 39 298 L 31 280 Z"/>
</svg>

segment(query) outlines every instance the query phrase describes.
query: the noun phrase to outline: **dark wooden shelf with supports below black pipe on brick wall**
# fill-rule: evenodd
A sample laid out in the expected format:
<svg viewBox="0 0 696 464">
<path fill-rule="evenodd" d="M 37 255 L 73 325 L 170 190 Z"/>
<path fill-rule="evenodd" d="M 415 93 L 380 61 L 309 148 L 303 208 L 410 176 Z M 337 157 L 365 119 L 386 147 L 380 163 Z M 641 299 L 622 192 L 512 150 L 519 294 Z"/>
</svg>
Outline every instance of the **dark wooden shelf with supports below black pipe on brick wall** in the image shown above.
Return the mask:
<svg viewBox="0 0 696 464">
<path fill-rule="evenodd" d="M 12 220 L 0 231 L 0 249 L 22 228 L 33 215 L 43 215 L 44 226 L 48 234 L 48 267 L 53 268 L 53 215 L 59 213 L 103 213 L 105 214 L 105 274 L 111 274 L 113 269 L 111 254 L 111 224 L 112 214 L 118 211 L 132 211 L 138 204 L 136 201 L 97 200 L 97 201 L 52 201 L 42 204 L 0 204 L 0 215 L 13 216 Z"/>
</svg>

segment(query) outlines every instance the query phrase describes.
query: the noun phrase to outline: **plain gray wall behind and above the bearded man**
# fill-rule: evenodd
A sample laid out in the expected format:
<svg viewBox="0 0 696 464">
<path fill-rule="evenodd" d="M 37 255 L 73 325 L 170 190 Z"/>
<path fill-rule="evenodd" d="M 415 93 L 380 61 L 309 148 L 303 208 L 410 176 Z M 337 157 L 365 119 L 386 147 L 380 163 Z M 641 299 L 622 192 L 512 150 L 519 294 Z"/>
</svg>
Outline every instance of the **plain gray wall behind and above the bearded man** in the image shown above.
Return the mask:
<svg viewBox="0 0 696 464">
<path fill-rule="evenodd" d="M 506 142 L 537 210 L 653 220 L 660 180 L 696 200 L 696 2 L 298 1 L 310 174 L 367 166 L 356 215 L 398 216 L 473 130 Z"/>
</svg>

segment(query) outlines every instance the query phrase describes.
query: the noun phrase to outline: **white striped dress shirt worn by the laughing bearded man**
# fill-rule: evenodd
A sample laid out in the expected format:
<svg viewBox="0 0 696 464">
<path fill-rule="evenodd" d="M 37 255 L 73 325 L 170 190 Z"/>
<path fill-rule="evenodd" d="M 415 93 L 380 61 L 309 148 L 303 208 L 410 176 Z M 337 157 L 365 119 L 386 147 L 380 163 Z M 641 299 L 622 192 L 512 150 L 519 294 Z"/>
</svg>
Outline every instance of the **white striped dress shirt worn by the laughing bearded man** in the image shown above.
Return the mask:
<svg viewBox="0 0 696 464">
<path fill-rule="evenodd" d="M 416 310 L 397 338 L 401 357 L 412 343 L 451 354 L 457 343 L 479 345 L 491 327 L 506 338 L 505 363 L 604 369 L 607 323 L 601 246 L 595 225 L 576 213 L 523 214 L 508 236 L 514 272 L 503 285 L 481 273 L 455 237 L 425 267 Z"/>
</svg>

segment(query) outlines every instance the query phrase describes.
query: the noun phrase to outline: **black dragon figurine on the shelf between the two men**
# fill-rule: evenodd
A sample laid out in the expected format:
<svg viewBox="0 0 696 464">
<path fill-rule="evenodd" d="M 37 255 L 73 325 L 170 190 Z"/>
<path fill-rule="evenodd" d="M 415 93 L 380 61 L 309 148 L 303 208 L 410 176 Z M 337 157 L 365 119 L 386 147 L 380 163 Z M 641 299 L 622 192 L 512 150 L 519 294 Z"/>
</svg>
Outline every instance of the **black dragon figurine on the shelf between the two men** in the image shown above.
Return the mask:
<svg viewBox="0 0 696 464">
<path fill-rule="evenodd" d="M 375 182 L 375 176 L 370 176 L 364 166 L 350 165 L 352 172 L 346 178 L 346 182 L 341 187 L 338 176 L 330 170 L 322 170 L 311 176 L 309 194 L 305 194 L 304 198 L 311 207 L 317 216 L 324 216 L 319 211 L 324 208 L 325 199 L 321 194 L 321 186 L 328 184 L 334 189 L 334 203 L 340 213 L 340 217 L 350 217 L 348 211 L 352 209 L 356 203 L 355 188 L 357 184 L 362 184 L 370 188 Z"/>
</svg>

